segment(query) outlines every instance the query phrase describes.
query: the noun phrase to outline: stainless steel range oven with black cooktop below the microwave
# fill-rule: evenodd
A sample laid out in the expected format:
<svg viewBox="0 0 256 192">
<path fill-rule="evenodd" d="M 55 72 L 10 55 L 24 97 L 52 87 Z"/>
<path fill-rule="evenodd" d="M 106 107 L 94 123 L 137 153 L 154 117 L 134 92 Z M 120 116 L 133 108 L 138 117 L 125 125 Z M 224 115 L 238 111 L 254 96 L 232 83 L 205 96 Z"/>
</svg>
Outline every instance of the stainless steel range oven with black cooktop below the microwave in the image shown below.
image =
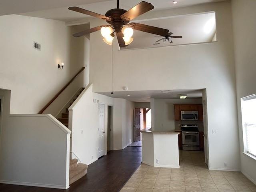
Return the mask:
<svg viewBox="0 0 256 192">
<path fill-rule="evenodd" d="M 193 124 L 182 125 L 182 149 L 183 150 L 200 150 L 198 126 Z"/>
</svg>

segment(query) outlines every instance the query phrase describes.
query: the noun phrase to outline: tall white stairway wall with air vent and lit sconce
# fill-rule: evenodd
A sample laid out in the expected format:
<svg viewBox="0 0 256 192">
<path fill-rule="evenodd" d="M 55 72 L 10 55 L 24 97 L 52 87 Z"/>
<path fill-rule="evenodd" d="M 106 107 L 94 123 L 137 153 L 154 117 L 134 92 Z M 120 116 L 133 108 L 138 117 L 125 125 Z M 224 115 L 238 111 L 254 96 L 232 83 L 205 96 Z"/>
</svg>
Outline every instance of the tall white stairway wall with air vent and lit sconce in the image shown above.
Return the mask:
<svg viewBox="0 0 256 192">
<path fill-rule="evenodd" d="M 83 41 L 56 20 L 7 15 L 0 16 L 0 25 L 0 88 L 12 90 L 10 113 L 38 113 L 84 66 Z"/>
</svg>

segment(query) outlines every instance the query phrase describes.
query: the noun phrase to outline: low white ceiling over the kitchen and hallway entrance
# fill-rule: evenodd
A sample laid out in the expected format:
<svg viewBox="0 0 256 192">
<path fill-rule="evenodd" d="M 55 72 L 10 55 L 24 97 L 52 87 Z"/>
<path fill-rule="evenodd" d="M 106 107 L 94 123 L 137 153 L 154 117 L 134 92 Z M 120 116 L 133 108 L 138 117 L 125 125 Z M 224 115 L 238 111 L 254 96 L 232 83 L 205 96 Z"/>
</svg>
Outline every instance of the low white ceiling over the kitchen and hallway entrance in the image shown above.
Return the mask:
<svg viewBox="0 0 256 192">
<path fill-rule="evenodd" d="M 99 92 L 99 94 L 113 98 L 123 98 L 133 102 L 150 102 L 150 98 L 178 99 L 180 98 L 180 94 L 187 94 L 187 98 L 202 98 L 202 90 L 118 91 L 114 92 L 114 94 L 110 92 Z"/>
</svg>

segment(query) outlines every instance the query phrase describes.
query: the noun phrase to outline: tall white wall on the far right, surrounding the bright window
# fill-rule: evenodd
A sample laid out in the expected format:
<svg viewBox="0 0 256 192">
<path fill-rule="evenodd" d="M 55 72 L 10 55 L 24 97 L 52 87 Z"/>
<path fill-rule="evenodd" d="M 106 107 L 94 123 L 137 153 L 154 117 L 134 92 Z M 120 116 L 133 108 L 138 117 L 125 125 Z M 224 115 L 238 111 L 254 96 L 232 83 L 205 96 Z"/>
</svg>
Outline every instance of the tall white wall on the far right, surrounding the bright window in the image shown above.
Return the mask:
<svg viewBox="0 0 256 192">
<path fill-rule="evenodd" d="M 240 99 L 256 93 L 256 1 L 232 0 L 234 52 L 236 62 L 236 89 L 238 105 L 238 125 L 240 135 L 241 170 L 256 183 L 256 160 L 243 154 L 242 115 Z M 241 38 L 241 34 L 246 34 Z"/>
</svg>

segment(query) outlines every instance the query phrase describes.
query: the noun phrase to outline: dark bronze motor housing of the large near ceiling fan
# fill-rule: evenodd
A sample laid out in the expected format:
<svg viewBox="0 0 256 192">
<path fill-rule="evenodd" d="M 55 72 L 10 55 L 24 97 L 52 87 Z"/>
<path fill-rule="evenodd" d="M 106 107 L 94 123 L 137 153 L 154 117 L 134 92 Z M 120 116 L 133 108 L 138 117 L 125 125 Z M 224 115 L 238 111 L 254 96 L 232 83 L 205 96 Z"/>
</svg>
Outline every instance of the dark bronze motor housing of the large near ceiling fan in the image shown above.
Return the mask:
<svg viewBox="0 0 256 192">
<path fill-rule="evenodd" d="M 105 16 L 111 18 L 110 21 L 106 21 L 111 24 L 116 32 L 121 32 L 122 27 L 129 23 L 129 20 L 122 20 L 121 15 L 124 14 L 124 9 L 111 9 L 106 12 Z"/>
</svg>

